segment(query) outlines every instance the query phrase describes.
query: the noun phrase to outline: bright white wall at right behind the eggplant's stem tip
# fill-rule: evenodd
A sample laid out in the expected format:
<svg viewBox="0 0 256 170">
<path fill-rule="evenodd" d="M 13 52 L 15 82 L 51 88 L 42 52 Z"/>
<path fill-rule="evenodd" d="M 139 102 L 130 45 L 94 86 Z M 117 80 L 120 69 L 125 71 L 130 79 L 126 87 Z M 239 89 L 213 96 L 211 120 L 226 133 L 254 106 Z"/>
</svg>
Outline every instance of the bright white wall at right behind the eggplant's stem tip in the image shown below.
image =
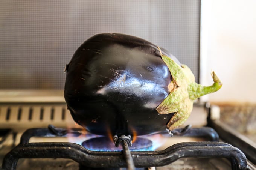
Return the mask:
<svg viewBox="0 0 256 170">
<path fill-rule="evenodd" d="M 256 103 L 256 0 L 201 1 L 200 82 L 222 88 L 202 98 L 210 102 Z"/>
</svg>

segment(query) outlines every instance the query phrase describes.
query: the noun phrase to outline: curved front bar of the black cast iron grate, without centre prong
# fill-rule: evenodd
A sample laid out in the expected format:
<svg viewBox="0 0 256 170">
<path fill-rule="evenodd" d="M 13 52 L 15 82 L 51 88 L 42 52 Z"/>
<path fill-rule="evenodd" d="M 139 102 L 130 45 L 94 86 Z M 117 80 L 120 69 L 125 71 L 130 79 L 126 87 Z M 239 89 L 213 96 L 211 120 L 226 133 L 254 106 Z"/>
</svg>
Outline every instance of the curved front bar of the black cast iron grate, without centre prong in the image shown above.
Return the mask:
<svg viewBox="0 0 256 170">
<path fill-rule="evenodd" d="M 135 167 L 159 167 L 179 158 L 227 158 L 232 169 L 246 169 L 244 153 L 222 142 L 184 142 L 161 151 L 131 152 Z M 22 143 L 9 152 L 4 160 L 4 170 L 15 170 L 20 158 L 69 158 L 86 167 L 126 167 L 122 152 L 90 151 L 75 143 Z"/>
</svg>

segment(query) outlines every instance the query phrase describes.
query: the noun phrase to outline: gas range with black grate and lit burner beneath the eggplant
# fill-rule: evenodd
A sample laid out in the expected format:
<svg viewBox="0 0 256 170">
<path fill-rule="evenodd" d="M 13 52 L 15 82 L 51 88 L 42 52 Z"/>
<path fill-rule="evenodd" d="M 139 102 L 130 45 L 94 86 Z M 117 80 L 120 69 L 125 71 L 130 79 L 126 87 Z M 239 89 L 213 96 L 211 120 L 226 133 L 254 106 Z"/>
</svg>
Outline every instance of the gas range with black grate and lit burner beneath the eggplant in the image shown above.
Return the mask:
<svg viewBox="0 0 256 170">
<path fill-rule="evenodd" d="M 66 114 L 66 110 L 63 109 L 64 104 L 55 103 L 55 107 L 51 109 L 48 105 L 38 109 L 40 111 L 38 118 L 41 118 L 42 122 L 46 116 L 44 108 L 48 109 L 50 119 L 52 117 L 54 120 L 56 111 L 60 111 L 61 120 L 66 120 L 69 114 Z M 10 104 L 1 106 L 1 114 L 5 120 L 13 116 L 13 106 Z M 31 107 L 27 108 L 26 116 L 21 114 L 20 107 L 14 108 L 18 113 L 17 119 L 27 116 L 30 119 L 35 117 Z M 207 109 L 210 114 L 210 107 Z M 14 130 L 15 128 L 1 129 L 1 168 L 4 170 L 255 169 L 252 163 L 255 161 L 253 155 L 256 153 L 253 145 L 245 144 L 246 141 L 244 143 L 239 141 L 241 147 L 234 147 L 232 145 L 238 144 L 238 139 L 242 140 L 241 138 L 236 139 L 236 136 L 232 136 L 227 128 L 210 118 L 208 125 L 208 127 L 186 126 L 176 129 L 173 131 L 173 137 L 166 131 L 137 137 L 135 141 L 131 141 L 129 136 L 110 139 L 88 134 L 80 128 L 56 128 L 53 125 L 28 128 L 22 133 L 17 132 L 17 129 Z M 232 139 L 234 144 L 230 141 L 230 144 L 223 142 L 225 135 Z M 187 141 L 188 138 L 189 141 Z M 143 143 L 142 147 L 141 143 Z M 99 145 L 107 147 L 98 147 Z"/>
</svg>

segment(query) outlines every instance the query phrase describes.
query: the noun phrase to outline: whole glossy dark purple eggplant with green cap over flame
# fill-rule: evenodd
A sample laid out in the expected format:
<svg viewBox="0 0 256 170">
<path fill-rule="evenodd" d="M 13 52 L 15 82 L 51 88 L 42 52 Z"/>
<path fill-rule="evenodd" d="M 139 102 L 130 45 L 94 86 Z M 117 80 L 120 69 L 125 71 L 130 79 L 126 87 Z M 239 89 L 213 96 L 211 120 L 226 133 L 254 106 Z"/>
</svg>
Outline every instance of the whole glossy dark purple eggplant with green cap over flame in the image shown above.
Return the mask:
<svg viewBox="0 0 256 170">
<path fill-rule="evenodd" d="M 168 51 L 117 33 L 94 35 L 66 65 L 64 97 L 76 123 L 98 135 L 169 132 L 189 117 L 193 101 L 222 83 L 195 83 L 192 71 Z"/>
</svg>

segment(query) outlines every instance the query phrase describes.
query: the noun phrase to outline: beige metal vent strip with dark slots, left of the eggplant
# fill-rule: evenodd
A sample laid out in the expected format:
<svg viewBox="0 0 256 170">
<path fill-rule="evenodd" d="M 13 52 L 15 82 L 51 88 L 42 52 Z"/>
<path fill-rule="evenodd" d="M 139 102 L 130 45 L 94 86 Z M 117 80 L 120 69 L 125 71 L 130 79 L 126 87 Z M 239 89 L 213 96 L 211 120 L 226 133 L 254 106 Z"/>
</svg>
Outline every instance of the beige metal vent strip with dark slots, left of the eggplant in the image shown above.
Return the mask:
<svg viewBox="0 0 256 170">
<path fill-rule="evenodd" d="M 73 126 L 66 104 L 0 104 L 0 128 Z"/>
</svg>

